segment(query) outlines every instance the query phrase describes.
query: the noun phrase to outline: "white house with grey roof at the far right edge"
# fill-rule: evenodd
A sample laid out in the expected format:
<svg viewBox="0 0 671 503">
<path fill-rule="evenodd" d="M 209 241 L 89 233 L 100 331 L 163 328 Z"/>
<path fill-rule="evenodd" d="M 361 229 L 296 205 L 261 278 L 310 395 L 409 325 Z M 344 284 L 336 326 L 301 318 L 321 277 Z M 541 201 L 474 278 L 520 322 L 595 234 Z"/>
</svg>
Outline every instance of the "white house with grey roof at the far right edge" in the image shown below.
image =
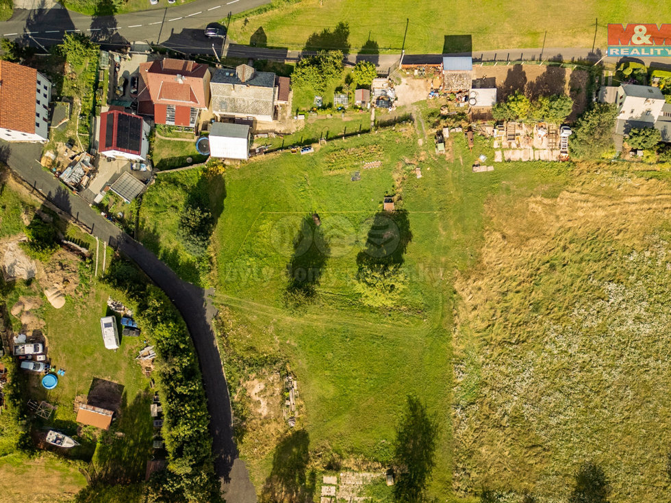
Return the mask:
<svg viewBox="0 0 671 503">
<path fill-rule="evenodd" d="M 618 107 L 616 137 L 626 135 L 631 129 L 654 127 L 659 129 L 663 142 L 671 142 L 671 104 L 666 103 L 659 88 L 622 84 L 615 105 Z"/>
</svg>

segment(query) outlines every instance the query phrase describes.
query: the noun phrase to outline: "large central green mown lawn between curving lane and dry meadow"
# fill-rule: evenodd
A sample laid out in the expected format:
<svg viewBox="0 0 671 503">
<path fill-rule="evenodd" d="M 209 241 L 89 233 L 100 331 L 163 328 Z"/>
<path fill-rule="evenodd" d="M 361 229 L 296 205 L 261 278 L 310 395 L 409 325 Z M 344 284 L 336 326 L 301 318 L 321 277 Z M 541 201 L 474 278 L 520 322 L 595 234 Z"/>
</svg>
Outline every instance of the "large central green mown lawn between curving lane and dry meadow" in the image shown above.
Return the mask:
<svg viewBox="0 0 671 503">
<path fill-rule="evenodd" d="M 314 155 L 266 157 L 227 172 L 215 231 L 216 299 L 232 327 L 227 347 L 236 357 L 277 354 L 288 363 L 304 403 L 296 428 L 307 430 L 310 450 L 322 459 L 336 452 L 387 465 L 405 396 L 416 394 L 439 418 L 431 493 L 443 498 L 452 491 L 453 272 L 479 253 L 488 196 L 554 196 L 568 175 L 566 165 L 534 163 L 474 174 L 473 160 L 490 153 L 480 138 L 477 147 L 468 152 L 457 136 L 454 159 L 439 158 L 431 142 L 418 147 L 411 126 L 333 142 Z M 382 166 L 361 170 L 362 180 L 353 182 L 346 149 L 359 163 L 379 159 Z M 394 181 L 402 188 L 396 209 L 412 235 L 402 266 L 408 288 L 403 307 L 372 309 L 354 290 L 357 254 Z M 315 211 L 330 251 L 320 264 L 316 300 L 292 311 L 283 303 L 286 270 L 301 242 L 301 220 Z M 261 487 L 272 450 L 255 455 L 257 447 L 244 440 L 241 449 Z"/>
</svg>

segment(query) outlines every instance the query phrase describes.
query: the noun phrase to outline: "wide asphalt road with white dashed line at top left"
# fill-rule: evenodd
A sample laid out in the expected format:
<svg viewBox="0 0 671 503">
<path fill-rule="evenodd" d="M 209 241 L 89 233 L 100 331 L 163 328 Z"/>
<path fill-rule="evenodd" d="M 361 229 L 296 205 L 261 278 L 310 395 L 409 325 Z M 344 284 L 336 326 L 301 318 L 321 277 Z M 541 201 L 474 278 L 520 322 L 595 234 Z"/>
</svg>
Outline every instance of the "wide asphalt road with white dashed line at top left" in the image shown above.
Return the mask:
<svg viewBox="0 0 671 503">
<path fill-rule="evenodd" d="M 147 8 L 142 12 L 116 16 L 86 16 L 55 8 L 15 9 L 9 21 L 0 23 L 0 35 L 21 40 L 33 46 L 58 44 L 68 31 L 81 31 L 107 46 L 122 46 L 129 42 L 164 44 L 184 53 L 212 52 L 212 42 L 220 49 L 220 40 L 208 39 L 203 28 L 225 18 L 269 3 L 270 0 L 197 0 L 168 9 Z"/>
</svg>

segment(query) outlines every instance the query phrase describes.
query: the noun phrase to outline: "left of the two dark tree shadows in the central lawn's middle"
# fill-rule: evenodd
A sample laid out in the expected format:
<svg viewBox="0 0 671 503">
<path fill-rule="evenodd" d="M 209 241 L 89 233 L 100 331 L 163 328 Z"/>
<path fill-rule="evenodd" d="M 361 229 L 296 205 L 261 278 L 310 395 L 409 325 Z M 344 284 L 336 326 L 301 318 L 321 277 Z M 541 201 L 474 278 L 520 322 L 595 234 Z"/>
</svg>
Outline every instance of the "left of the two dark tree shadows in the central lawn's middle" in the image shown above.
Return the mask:
<svg viewBox="0 0 671 503">
<path fill-rule="evenodd" d="M 286 300 L 301 304 L 312 300 L 329 256 L 329 240 L 316 224 L 313 214 L 301 220 L 293 241 L 294 253 L 287 264 Z"/>
</svg>

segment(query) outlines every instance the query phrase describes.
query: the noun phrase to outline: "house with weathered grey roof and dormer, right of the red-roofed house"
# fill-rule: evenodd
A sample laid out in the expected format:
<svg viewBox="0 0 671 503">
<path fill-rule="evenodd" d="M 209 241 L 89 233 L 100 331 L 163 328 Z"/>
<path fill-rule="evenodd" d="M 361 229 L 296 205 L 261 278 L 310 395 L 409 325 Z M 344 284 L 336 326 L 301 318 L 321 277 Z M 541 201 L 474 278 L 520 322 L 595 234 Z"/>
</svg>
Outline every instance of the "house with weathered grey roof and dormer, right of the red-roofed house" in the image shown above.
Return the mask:
<svg viewBox="0 0 671 503">
<path fill-rule="evenodd" d="M 258 72 L 241 64 L 235 70 L 220 68 L 210 81 L 212 113 L 218 117 L 273 120 L 277 86 L 275 73 Z"/>
</svg>

